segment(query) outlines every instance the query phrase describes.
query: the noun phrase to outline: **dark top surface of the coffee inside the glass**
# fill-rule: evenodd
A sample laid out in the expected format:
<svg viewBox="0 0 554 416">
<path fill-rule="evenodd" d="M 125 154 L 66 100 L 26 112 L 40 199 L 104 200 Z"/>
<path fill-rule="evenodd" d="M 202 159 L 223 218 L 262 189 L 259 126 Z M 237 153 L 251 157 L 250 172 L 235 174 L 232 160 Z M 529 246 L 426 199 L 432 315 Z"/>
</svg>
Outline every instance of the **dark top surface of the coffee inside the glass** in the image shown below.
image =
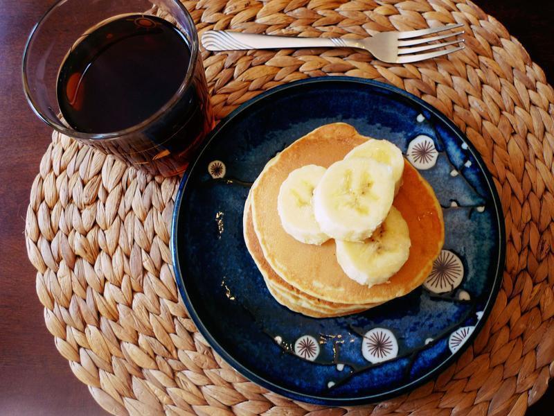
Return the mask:
<svg viewBox="0 0 554 416">
<path fill-rule="evenodd" d="M 190 62 L 184 35 L 159 17 L 109 21 L 69 53 L 57 98 L 82 132 L 115 132 L 148 119 L 177 92 Z"/>
</svg>

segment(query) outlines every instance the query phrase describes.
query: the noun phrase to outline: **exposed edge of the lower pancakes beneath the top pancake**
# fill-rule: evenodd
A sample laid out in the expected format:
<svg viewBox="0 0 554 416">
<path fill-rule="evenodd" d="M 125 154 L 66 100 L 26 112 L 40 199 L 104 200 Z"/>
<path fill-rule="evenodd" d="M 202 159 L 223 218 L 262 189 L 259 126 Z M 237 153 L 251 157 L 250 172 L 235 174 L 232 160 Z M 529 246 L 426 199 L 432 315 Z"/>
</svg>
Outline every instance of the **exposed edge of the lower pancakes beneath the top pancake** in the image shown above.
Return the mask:
<svg viewBox="0 0 554 416">
<path fill-rule="evenodd" d="M 268 162 L 268 165 L 271 165 L 271 163 Z M 258 242 L 258 237 L 254 231 L 250 201 L 251 193 L 249 193 L 247 202 L 244 205 L 242 221 L 244 242 L 256 266 L 258 266 L 258 270 L 260 270 L 265 284 L 269 288 L 269 292 L 276 298 L 277 302 L 287 306 L 287 308 L 295 312 L 313 316 L 314 318 L 348 315 L 377 306 L 376 304 L 352 305 L 327 302 L 307 295 L 306 293 L 302 293 L 298 291 L 297 288 L 294 288 L 294 286 L 287 284 L 286 281 L 281 279 L 276 272 L 274 272 L 271 266 L 269 266 L 269 263 L 265 260 L 262 249 L 260 248 L 260 243 Z"/>
</svg>

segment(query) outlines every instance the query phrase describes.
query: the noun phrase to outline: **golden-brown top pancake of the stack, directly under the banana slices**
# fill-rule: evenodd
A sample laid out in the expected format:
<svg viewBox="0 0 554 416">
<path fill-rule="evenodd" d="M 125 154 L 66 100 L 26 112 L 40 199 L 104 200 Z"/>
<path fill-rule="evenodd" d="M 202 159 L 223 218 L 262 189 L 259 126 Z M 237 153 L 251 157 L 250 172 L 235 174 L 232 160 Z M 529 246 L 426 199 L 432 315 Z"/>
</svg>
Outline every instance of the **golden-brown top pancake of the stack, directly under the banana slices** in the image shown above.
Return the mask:
<svg viewBox="0 0 554 416">
<path fill-rule="evenodd" d="M 408 162 L 393 205 L 408 224 L 410 255 L 386 283 L 368 288 L 346 276 L 337 263 L 334 240 L 309 245 L 285 232 L 278 216 L 277 196 L 289 173 L 307 164 L 327 168 L 367 139 L 345 123 L 317 128 L 283 150 L 251 189 L 253 228 L 269 268 L 301 293 L 327 302 L 372 304 L 406 295 L 425 281 L 443 247 L 443 211 L 433 189 Z"/>
</svg>

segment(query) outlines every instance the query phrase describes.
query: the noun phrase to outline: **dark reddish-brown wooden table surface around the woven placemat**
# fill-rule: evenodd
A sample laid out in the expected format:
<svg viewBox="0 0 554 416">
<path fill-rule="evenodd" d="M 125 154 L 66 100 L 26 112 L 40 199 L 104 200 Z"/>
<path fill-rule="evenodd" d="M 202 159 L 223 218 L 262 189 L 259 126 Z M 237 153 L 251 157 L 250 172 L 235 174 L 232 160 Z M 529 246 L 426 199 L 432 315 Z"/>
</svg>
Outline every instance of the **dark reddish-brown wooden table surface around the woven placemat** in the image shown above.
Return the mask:
<svg viewBox="0 0 554 416">
<path fill-rule="evenodd" d="M 554 2 L 476 1 L 506 25 L 554 81 Z M 24 226 L 30 186 L 49 129 L 29 109 L 21 53 L 53 0 L 0 0 L 0 415 L 105 415 L 73 376 L 44 325 L 27 260 Z M 528 415 L 552 415 L 554 388 Z"/>
</svg>

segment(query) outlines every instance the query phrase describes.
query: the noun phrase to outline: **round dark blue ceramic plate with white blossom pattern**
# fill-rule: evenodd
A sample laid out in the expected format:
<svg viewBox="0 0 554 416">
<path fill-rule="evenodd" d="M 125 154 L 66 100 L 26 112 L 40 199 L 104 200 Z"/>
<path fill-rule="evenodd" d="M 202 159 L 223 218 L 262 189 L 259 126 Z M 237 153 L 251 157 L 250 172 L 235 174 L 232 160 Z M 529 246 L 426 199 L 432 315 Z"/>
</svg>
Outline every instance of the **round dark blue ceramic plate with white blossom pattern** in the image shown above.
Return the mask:
<svg viewBox="0 0 554 416">
<path fill-rule="evenodd" d="M 393 141 L 434 188 L 445 245 L 424 286 L 364 313 L 307 318 L 269 294 L 242 238 L 249 184 L 278 151 L 343 121 Z M 222 120 L 181 182 L 172 253 L 181 296 L 208 343 L 248 379 L 293 399 L 379 401 L 436 376 L 490 313 L 504 264 L 492 177 L 475 148 L 419 98 L 325 77 L 271 89 Z"/>
</svg>

